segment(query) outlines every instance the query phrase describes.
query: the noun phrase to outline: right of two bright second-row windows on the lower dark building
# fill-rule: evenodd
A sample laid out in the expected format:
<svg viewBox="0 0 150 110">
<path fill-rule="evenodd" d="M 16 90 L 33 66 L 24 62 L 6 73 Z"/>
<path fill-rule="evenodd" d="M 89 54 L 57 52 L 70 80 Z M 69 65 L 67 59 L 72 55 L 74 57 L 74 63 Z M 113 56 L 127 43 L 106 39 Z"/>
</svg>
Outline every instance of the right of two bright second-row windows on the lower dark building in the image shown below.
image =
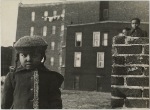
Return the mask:
<svg viewBox="0 0 150 110">
<path fill-rule="evenodd" d="M 97 68 L 104 68 L 104 52 L 97 52 Z"/>
</svg>

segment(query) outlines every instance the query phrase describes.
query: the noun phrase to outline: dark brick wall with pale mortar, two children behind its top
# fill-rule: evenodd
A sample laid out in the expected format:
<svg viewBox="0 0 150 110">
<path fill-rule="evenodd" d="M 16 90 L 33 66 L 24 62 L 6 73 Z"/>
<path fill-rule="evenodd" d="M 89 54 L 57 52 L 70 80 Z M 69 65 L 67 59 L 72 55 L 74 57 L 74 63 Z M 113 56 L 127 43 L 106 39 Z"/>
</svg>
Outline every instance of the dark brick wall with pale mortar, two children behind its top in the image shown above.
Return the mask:
<svg viewBox="0 0 150 110">
<path fill-rule="evenodd" d="M 115 36 L 112 61 L 112 108 L 148 108 L 149 38 Z"/>
</svg>

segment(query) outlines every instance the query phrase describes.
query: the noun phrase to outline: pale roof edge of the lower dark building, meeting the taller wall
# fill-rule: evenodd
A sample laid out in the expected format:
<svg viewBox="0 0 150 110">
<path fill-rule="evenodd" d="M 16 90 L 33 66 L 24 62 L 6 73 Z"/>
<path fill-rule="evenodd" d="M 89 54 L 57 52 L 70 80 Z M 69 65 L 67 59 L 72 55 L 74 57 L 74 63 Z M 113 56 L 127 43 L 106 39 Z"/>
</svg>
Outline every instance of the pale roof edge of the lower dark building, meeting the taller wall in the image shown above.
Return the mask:
<svg viewBox="0 0 150 110">
<path fill-rule="evenodd" d="M 131 22 L 129 21 L 99 21 L 99 22 L 83 23 L 83 24 L 71 24 L 71 25 L 67 25 L 67 27 L 93 25 L 93 24 L 99 24 L 99 23 L 127 23 L 128 24 Z M 141 24 L 149 24 L 149 22 L 141 22 Z"/>
</svg>

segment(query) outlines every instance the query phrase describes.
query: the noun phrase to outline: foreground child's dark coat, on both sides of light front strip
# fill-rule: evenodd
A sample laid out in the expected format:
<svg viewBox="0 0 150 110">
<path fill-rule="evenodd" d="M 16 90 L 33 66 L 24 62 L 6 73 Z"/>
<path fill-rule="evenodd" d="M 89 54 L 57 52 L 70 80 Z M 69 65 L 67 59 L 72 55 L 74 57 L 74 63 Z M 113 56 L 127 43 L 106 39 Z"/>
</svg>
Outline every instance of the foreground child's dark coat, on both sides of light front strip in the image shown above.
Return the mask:
<svg viewBox="0 0 150 110">
<path fill-rule="evenodd" d="M 3 90 L 2 109 L 33 109 L 34 79 L 33 71 L 23 67 L 8 73 Z M 64 78 L 61 74 L 49 71 L 44 65 L 38 67 L 39 108 L 62 108 L 59 90 Z"/>
</svg>

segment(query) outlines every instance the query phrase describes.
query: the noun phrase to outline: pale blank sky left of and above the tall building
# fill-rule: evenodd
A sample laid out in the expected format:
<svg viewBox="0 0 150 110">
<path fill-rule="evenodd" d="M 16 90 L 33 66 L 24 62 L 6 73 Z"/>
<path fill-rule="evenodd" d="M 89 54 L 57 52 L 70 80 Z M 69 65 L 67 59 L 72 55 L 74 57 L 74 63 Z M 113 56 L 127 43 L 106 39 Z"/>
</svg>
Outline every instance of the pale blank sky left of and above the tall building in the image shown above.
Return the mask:
<svg viewBox="0 0 150 110">
<path fill-rule="evenodd" d="M 38 4 L 51 3 L 65 0 L 0 0 L 1 1 L 1 21 L 0 21 L 0 35 L 1 46 L 13 46 L 16 36 L 18 4 Z"/>
</svg>

